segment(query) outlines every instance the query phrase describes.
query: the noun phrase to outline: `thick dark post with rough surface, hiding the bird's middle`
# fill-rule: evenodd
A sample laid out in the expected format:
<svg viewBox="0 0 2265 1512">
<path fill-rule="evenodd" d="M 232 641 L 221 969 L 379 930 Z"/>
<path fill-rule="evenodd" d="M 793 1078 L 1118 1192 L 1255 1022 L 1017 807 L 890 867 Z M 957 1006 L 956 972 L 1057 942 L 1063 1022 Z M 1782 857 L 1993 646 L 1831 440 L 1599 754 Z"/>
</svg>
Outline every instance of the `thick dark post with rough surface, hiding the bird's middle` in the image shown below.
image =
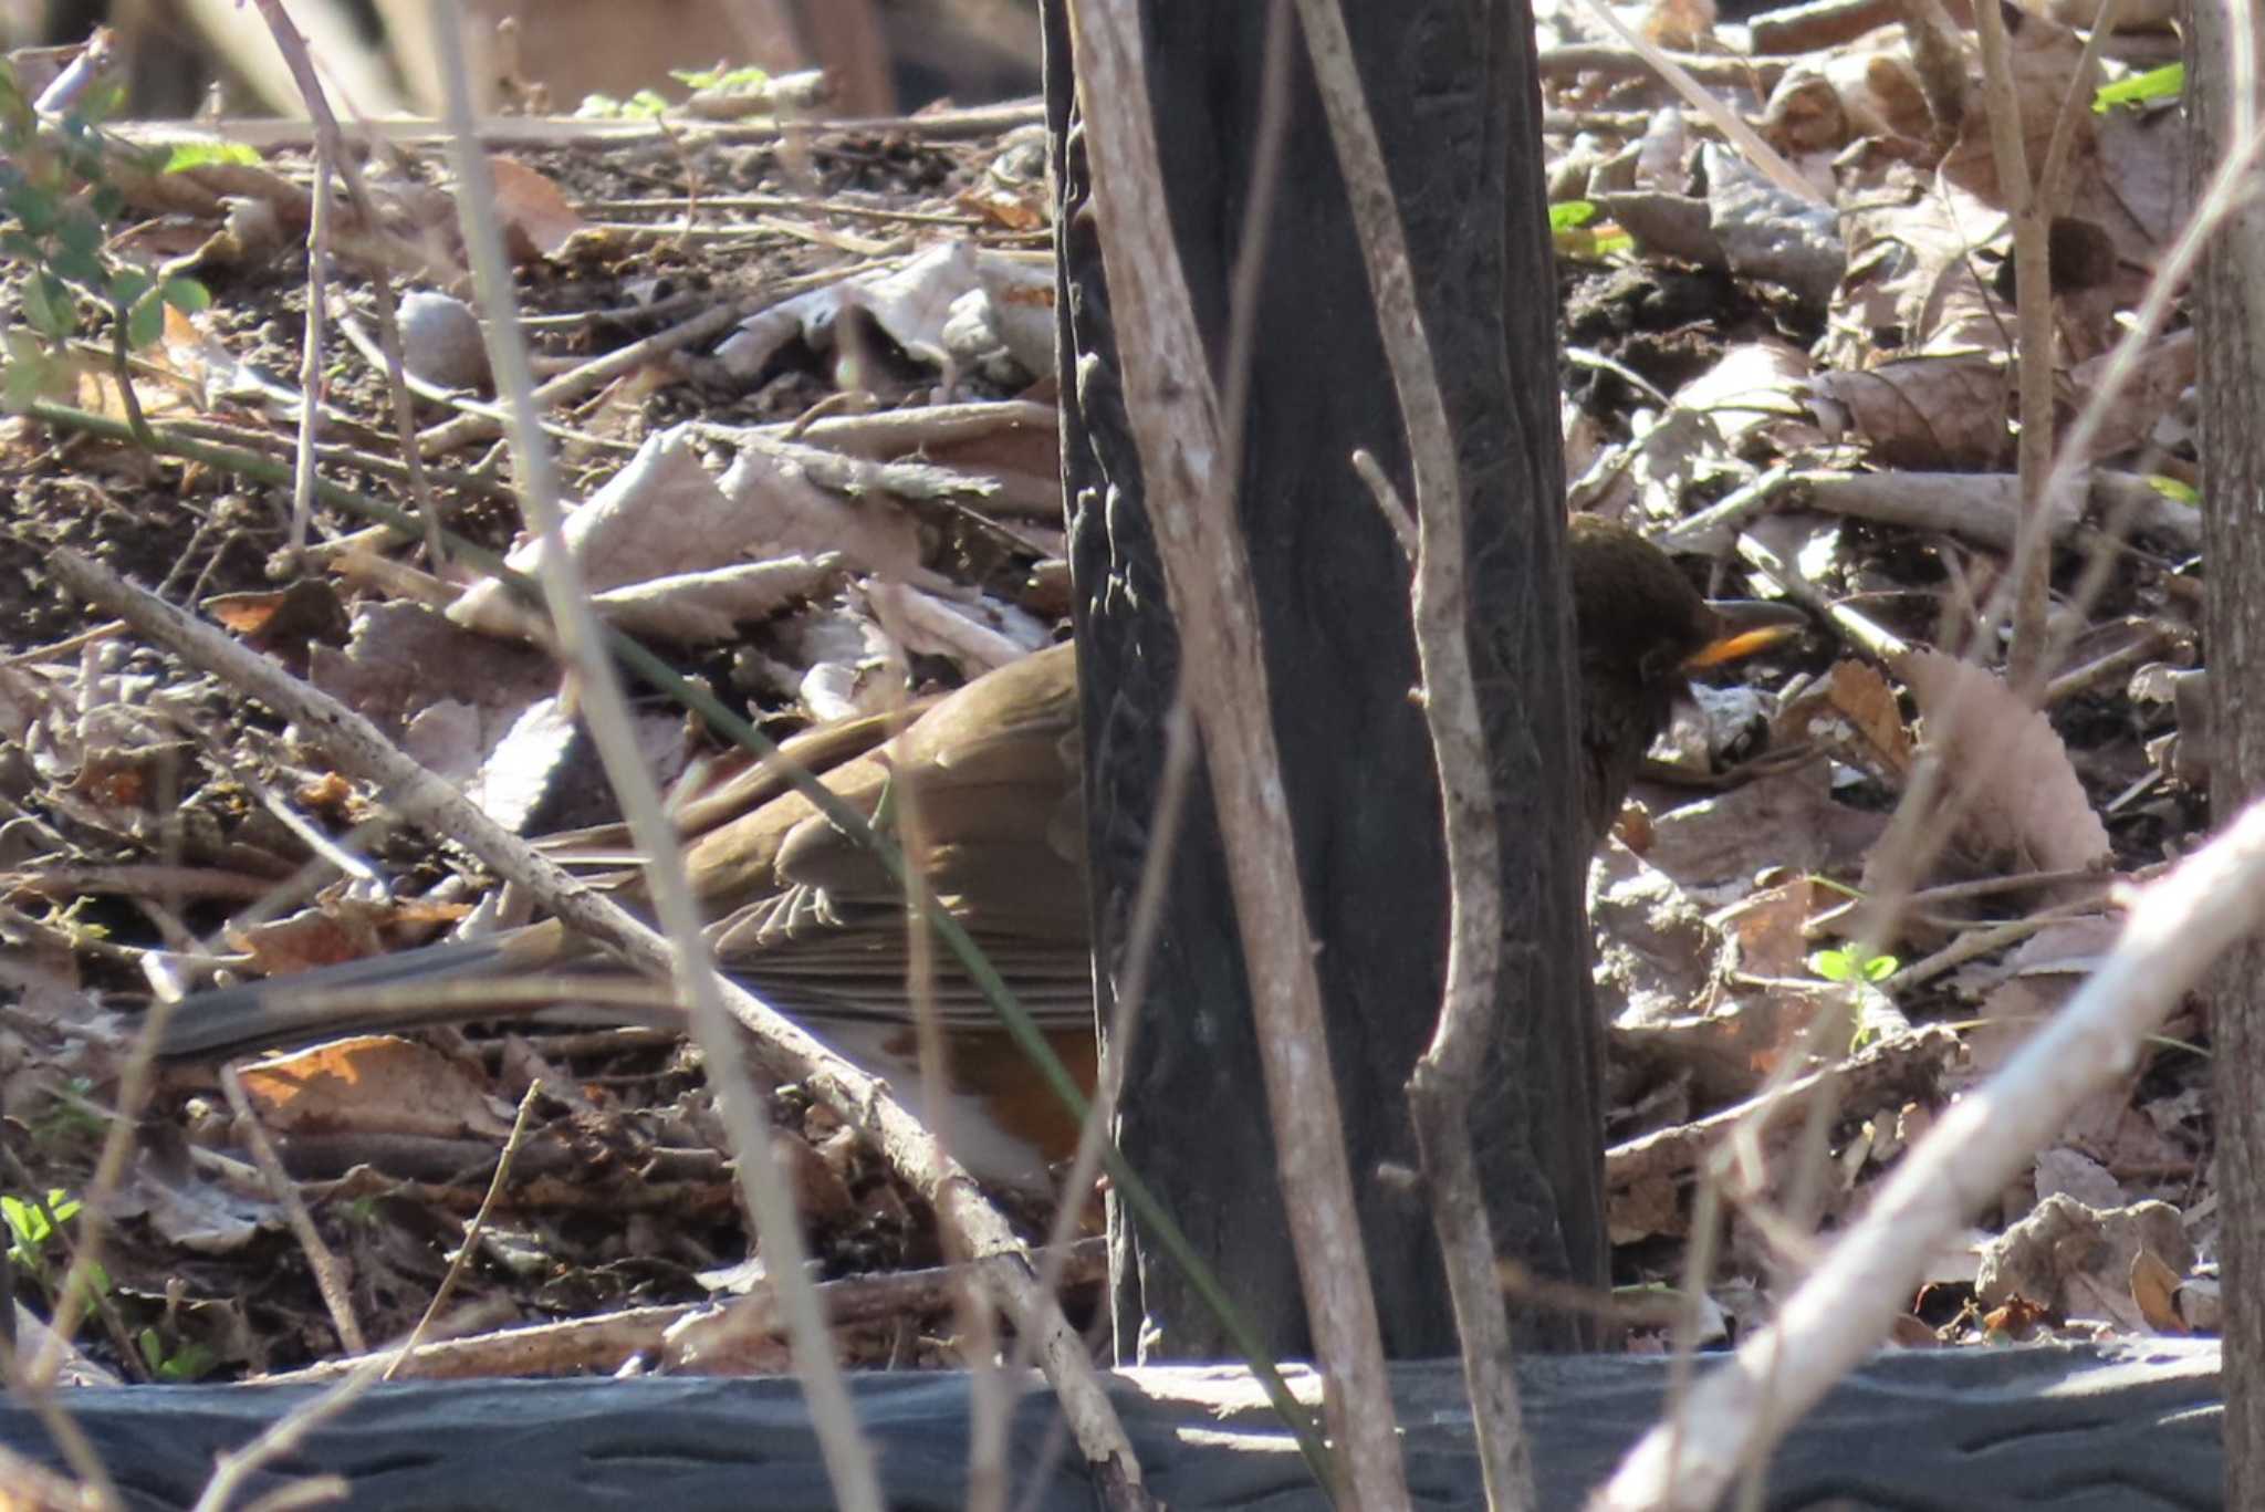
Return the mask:
<svg viewBox="0 0 2265 1512">
<path fill-rule="evenodd" d="M 1164 204 L 1214 363 L 1253 190 L 1266 5 L 1157 0 L 1151 102 Z M 1540 111 L 1524 5 L 1348 7 L 1370 104 L 1447 381 L 1470 515 L 1472 648 L 1506 836 L 1515 941 L 1504 1025 L 1475 1111 L 1504 1251 L 1540 1274 L 1601 1283 L 1597 1025 L 1581 920 L 1572 648 L 1558 544 L 1556 295 L 1542 213 Z M 1291 23 L 1293 25 L 1293 23 Z M 1065 342 L 1065 485 L 1085 666 L 1087 823 L 1101 995 L 1123 959 L 1151 850 L 1162 719 L 1182 646 L 1169 619 L 1123 424 L 1110 322 L 1067 77 L 1067 16 L 1046 5 Z M 1404 1081 L 1441 993 L 1445 882 L 1438 782 L 1418 710 L 1407 564 L 1348 456 L 1404 481 L 1359 247 L 1302 63 L 1259 279 L 1239 517 L 1330 1013 L 1345 1143 L 1366 1181 L 1364 1238 L 1386 1349 L 1454 1351 L 1452 1315 L 1413 1170 Z M 1180 841 L 1119 1136 L 1230 1294 L 1282 1353 L 1309 1349 L 1259 1088 L 1248 993 L 1210 796 Z M 1182 1276 L 1112 1220 L 1119 1358 L 1216 1358 L 1223 1335 Z M 1524 1342 L 1586 1342 L 1583 1319 L 1527 1315 Z"/>
</svg>

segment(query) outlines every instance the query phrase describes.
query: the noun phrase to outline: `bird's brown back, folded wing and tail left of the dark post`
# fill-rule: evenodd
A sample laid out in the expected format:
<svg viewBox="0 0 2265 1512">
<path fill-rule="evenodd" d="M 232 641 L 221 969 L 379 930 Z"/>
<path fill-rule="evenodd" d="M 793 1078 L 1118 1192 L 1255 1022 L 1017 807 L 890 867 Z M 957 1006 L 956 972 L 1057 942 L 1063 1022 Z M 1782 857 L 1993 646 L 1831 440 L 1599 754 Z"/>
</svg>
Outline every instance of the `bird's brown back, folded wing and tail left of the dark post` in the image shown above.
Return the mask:
<svg viewBox="0 0 2265 1512">
<path fill-rule="evenodd" d="M 1033 972 L 1035 1004 L 1085 1016 L 1074 728 L 1076 676 L 1062 646 L 969 682 L 933 703 L 899 744 L 847 759 L 822 780 L 865 816 L 892 780 L 915 784 L 935 841 L 931 880 L 938 893 L 954 904 L 969 895 L 981 900 L 965 923 L 988 938 L 1010 975 Z M 872 721 L 829 732 L 824 755 L 856 750 L 877 732 Z M 725 920 L 713 934 L 725 966 L 770 991 L 779 1006 L 879 1018 L 906 1011 L 901 891 L 802 793 L 777 796 L 716 825 L 691 841 L 684 859 L 709 916 Z M 632 900 L 641 893 L 634 884 L 625 891 Z M 179 1006 L 165 1052 L 482 1018 L 480 1004 L 462 997 L 351 1011 L 324 1006 L 310 993 L 539 970 L 578 952 L 575 936 L 550 920 L 487 943 L 199 993 Z M 949 1000 L 954 1016 L 988 1018 L 958 972 L 945 977 L 938 997 Z"/>
</svg>

